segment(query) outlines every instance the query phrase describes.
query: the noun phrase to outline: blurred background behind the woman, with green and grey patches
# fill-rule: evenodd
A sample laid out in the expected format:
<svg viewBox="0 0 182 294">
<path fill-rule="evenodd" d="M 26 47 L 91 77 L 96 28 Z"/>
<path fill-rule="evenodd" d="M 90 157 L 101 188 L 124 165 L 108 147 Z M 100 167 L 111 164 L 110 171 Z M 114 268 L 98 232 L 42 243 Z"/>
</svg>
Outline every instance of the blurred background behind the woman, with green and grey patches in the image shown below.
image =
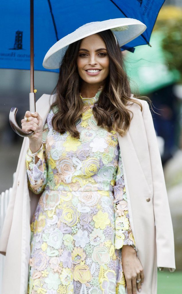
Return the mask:
<svg viewBox="0 0 182 294">
<path fill-rule="evenodd" d="M 150 44 L 123 51 L 131 90 L 151 98 L 152 113 L 168 192 L 175 237 L 176 271 L 158 272 L 158 294 L 182 293 L 182 1 L 166 0 L 158 14 Z M 142 58 L 141 58 L 142 56 Z M 12 187 L 23 138 L 9 124 L 18 107 L 21 126 L 29 110 L 29 70 L 0 69 L 0 194 Z M 35 71 L 36 99 L 50 94 L 58 74 Z M 172 292 L 173 291 L 173 292 Z"/>
</svg>

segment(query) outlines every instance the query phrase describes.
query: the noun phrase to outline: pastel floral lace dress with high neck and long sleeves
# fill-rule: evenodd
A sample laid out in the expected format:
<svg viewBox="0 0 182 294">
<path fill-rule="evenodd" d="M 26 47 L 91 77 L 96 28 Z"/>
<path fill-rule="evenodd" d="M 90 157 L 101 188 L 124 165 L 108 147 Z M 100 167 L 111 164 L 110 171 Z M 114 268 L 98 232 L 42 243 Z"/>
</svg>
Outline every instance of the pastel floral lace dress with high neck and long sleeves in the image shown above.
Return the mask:
<svg viewBox="0 0 182 294">
<path fill-rule="evenodd" d="M 80 139 L 53 130 L 53 108 L 39 161 L 26 156 L 29 188 L 43 192 L 31 220 L 29 294 L 125 293 L 121 248 L 135 240 L 116 132 L 92 113 L 100 92 L 81 97 Z"/>
</svg>

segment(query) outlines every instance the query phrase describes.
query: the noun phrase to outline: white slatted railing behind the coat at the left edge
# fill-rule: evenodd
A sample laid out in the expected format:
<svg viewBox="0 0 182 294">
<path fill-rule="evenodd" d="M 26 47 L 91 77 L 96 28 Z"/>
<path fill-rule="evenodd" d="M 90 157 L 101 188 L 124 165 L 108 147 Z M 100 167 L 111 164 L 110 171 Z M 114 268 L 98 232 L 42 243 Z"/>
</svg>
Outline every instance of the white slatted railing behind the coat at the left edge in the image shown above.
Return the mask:
<svg viewBox="0 0 182 294">
<path fill-rule="evenodd" d="M 13 181 L 14 181 L 14 177 L 15 177 L 15 173 L 13 174 Z M 5 192 L 2 192 L 0 195 L 0 236 L 2 232 L 2 227 L 3 227 L 9 199 L 11 197 L 11 191 L 12 191 L 12 188 L 10 188 L 9 190 L 6 190 Z M 0 254 L 0 294 L 2 294 L 1 285 L 2 285 L 5 258 L 6 256 Z"/>
</svg>

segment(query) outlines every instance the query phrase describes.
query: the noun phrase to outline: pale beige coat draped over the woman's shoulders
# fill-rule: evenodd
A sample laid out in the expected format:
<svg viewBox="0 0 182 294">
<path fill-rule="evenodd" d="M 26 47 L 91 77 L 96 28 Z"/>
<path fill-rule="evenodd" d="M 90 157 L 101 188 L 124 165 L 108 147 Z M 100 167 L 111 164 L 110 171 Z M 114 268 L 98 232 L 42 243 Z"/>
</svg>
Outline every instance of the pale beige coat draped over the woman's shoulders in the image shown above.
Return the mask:
<svg viewBox="0 0 182 294">
<path fill-rule="evenodd" d="M 133 96 L 133 94 L 132 94 Z M 36 111 L 46 121 L 49 95 L 36 102 Z M 51 96 L 51 103 L 54 96 Z M 137 99 L 137 98 L 135 98 Z M 175 270 L 174 238 L 168 196 L 151 112 L 129 102 L 133 119 L 126 136 L 118 134 L 131 228 L 137 256 L 144 269 L 141 294 L 157 294 L 157 267 Z M 24 138 L 13 191 L 0 238 L 0 253 L 6 253 L 3 294 L 26 294 L 30 257 L 30 221 L 39 196 L 27 186 L 25 156 L 29 139 Z"/>
</svg>

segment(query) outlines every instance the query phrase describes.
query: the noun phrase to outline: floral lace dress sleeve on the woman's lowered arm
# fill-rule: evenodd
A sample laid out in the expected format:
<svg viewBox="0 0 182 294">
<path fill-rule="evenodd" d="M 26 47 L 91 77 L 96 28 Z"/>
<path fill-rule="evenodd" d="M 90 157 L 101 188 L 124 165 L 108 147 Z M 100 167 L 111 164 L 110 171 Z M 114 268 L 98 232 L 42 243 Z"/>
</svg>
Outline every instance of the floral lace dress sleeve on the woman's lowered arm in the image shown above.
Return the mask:
<svg viewBox="0 0 182 294">
<path fill-rule="evenodd" d="M 116 230 L 114 248 L 120 249 L 123 247 L 123 245 L 132 245 L 135 247 L 135 240 L 129 222 L 128 203 L 120 150 L 118 168 L 116 172 L 116 182 L 115 186 L 113 187 L 113 192 Z"/>
</svg>

